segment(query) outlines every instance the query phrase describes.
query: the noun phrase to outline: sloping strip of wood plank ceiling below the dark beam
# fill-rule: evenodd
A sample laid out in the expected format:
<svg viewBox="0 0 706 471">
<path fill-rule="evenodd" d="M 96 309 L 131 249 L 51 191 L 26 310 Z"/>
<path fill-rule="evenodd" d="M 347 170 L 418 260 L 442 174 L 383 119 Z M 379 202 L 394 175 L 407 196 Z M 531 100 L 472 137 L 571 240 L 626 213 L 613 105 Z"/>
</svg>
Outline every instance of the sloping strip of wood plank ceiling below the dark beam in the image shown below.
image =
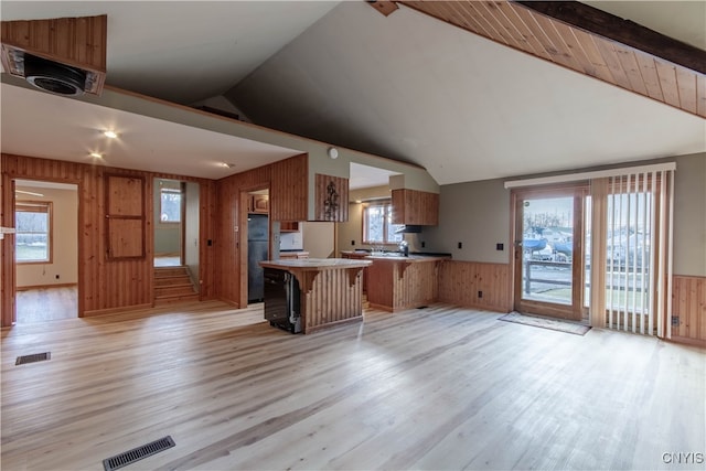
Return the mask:
<svg viewBox="0 0 706 471">
<path fill-rule="evenodd" d="M 706 76 L 514 1 L 408 1 L 454 26 L 706 118 Z M 696 50 L 704 53 L 700 50 Z M 702 62 L 699 55 L 696 62 Z M 702 64 L 705 66 L 706 64 Z M 517 83 L 522 83 L 518 71 Z"/>
</svg>

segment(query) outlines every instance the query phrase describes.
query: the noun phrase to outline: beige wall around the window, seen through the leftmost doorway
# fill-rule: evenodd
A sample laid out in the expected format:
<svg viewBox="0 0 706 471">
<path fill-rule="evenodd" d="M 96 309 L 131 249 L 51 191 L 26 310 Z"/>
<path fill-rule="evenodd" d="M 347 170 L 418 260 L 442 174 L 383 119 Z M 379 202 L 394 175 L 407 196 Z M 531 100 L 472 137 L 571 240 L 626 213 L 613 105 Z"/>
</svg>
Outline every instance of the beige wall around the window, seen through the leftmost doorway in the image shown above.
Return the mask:
<svg viewBox="0 0 706 471">
<path fill-rule="evenodd" d="M 17 264 L 17 287 L 74 285 L 78 282 L 78 192 L 17 186 L 44 197 L 18 194 L 17 201 L 52 202 L 52 263 Z M 58 279 L 56 278 L 58 276 Z"/>
</svg>

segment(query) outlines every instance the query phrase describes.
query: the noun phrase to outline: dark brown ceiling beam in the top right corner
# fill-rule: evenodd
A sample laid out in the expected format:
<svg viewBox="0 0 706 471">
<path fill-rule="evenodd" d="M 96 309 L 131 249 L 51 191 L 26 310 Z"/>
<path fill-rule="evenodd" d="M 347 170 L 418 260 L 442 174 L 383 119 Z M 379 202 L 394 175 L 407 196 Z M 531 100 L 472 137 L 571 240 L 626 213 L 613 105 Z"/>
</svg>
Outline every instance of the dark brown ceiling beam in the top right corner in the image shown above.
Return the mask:
<svg viewBox="0 0 706 471">
<path fill-rule="evenodd" d="M 513 0 L 533 11 L 706 74 L 706 51 L 578 1 Z"/>
</svg>

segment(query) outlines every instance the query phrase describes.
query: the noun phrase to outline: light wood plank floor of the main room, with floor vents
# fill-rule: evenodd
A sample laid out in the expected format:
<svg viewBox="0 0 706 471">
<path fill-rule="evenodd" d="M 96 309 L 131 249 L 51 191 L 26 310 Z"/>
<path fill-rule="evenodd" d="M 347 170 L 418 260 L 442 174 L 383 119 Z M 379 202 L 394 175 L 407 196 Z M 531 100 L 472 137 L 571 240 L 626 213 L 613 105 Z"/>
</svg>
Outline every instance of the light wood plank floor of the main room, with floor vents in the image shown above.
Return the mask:
<svg viewBox="0 0 706 471">
<path fill-rule="evenodd" d="M 220 302 L 2 335 L 3 470 L 700 469 L 706 353 L 432 306 L 291 335 Z M 50 361 L 14 366 L 18 355 Z"/>
</svg>

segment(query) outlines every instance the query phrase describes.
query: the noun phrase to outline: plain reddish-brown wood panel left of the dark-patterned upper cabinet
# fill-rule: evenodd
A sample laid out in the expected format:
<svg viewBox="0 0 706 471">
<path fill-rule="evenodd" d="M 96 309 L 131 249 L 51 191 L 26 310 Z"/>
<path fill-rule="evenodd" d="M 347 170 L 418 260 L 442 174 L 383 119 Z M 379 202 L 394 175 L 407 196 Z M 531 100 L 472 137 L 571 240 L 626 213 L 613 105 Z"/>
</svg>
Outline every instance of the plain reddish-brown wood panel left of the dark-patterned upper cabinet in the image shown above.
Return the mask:
<svg viewBox="0 0 706 471">
<path fill-rule="evenodd" d="M 269 215 L 272 221 L 307 221 L 309 157 L 304 153 L 271 164 Z"/>
</svg>

